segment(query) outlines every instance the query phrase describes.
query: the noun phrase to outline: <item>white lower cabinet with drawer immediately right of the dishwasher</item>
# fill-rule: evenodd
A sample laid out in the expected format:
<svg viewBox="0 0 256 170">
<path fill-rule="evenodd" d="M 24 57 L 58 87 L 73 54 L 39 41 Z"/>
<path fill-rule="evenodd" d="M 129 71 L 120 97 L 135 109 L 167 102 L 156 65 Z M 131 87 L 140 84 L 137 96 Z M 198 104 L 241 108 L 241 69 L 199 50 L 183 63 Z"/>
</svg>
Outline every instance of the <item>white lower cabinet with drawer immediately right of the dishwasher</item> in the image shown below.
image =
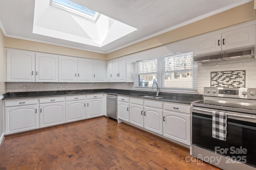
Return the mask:
<svg viewBox="0 0 256 170">
<path fill-rule="evenodd" d="M 129 122 L 129 98 L 117 97 L 117 117 Z"/>
</svg>

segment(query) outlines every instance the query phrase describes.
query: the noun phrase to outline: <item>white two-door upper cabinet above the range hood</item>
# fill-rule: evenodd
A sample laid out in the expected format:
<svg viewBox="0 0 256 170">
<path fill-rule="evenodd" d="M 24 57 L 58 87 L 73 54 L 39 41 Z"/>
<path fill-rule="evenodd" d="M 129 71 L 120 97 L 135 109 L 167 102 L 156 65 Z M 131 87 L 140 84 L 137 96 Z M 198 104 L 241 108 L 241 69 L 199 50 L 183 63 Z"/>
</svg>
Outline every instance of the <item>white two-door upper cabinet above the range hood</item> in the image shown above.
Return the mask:
<svg viewBox="0 0 256 170">
<path fill-rule="evenodd" d="M 212 34 L 212 33 L 210 33 Z M 212 53 L 256 45 L 256 25 L 220 32 L 196 39 L 196 54 Z"/>
</svg>

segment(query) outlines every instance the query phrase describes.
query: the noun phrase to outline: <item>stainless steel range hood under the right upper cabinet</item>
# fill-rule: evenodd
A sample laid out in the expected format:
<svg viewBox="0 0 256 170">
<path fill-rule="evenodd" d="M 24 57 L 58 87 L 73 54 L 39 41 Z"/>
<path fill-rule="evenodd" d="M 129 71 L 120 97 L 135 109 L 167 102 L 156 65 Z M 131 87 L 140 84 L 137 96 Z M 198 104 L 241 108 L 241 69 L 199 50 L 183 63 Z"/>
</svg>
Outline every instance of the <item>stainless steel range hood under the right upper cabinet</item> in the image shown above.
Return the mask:
<svg viewBox="0 0 256 170">
<path fill-rule="evenodd" d="M 227 51 L 218 51 L 215 53 L 206 53 L 193 56 L 194 62 L 211 63 L 216 61 L 230 61 L 237 59 L 255 58 L 255 46 L 232 49 Z"/>
</svg>

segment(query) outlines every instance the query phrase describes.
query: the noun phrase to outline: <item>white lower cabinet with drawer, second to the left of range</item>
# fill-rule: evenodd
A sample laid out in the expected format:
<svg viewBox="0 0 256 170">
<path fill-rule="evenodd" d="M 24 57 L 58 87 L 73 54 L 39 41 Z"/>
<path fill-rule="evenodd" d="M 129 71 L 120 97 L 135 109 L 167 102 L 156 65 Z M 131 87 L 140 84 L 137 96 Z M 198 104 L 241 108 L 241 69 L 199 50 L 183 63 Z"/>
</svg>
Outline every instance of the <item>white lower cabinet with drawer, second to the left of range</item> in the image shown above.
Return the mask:
<svg viewBox="0 0 256 170">
<path fill-rule="evenodd" d="M 144 101 L 144 128 L 160 135 L 163 135 L 162 108 L 162 102 Z"/>
</svg>

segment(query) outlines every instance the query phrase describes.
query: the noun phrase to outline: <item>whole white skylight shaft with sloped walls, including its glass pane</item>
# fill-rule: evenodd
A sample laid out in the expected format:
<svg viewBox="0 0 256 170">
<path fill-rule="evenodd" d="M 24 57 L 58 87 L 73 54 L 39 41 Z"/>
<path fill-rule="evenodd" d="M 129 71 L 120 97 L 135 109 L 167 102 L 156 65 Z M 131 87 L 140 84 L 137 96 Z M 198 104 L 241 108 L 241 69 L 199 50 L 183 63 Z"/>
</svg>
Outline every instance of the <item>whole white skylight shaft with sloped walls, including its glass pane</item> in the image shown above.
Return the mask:
<svg viewBox="0 0 256 170">
<path fill-rule="evenodd" d="M 79 1 L 84 6 L 84 0 Z M 70 0 L 35 0 L 33 33 L 103 47 L 137 30 L 82 5 Z"/>
</svg>

